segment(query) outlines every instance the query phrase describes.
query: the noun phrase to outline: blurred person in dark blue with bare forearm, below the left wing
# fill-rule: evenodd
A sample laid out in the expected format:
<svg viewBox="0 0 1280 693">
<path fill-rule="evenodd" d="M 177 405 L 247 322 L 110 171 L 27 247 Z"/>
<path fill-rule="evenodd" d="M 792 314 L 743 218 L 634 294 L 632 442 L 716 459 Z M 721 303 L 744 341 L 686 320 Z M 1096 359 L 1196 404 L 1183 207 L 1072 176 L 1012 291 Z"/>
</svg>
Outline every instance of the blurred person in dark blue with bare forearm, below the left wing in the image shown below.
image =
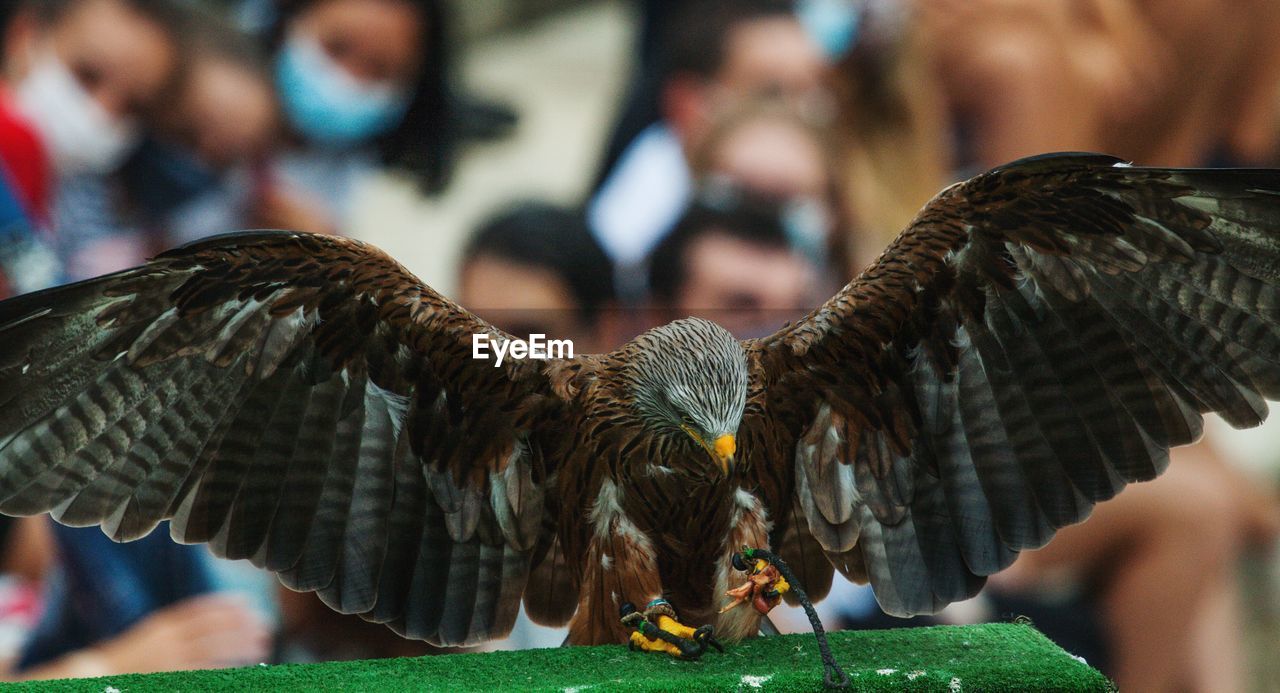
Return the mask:
<svg viewBox="0 0 1280 693">
<path fill-rule="evenodd" d="M 41 518 L 47 521 L 47 519 Z M 116 543 L 97 528 L 52 525 L 56 562 L 22 678 L 73 665 L 74 676 L 211 669 L 264 661 L 271 634 L 239 594 L 218 593 L 204 547 L 164 529 Z M 60 664 L 59 664 L 60 662 Z"/>
</svg>

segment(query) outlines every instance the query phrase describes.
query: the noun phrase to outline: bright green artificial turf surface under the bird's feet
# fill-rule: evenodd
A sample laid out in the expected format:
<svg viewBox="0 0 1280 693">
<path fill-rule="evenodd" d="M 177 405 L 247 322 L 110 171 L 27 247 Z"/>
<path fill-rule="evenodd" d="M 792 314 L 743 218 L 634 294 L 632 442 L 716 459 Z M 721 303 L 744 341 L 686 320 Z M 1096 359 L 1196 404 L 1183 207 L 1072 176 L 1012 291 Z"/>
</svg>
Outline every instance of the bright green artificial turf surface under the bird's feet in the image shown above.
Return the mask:
<svg viewBox="0 0 1280 693">
<path fill-rule="evenodd" d="M 831 634 L 852 690 L 1108 690 L 1098 671 L 1028 625 Z M 698 662 L 621 646 L 257 666 L 22 684 L 47 692 L 147 690 L 818 690 L 810 634 L 755 638 Z M 113 690 L 114 689 L 114 690 Z"/>
</svg>

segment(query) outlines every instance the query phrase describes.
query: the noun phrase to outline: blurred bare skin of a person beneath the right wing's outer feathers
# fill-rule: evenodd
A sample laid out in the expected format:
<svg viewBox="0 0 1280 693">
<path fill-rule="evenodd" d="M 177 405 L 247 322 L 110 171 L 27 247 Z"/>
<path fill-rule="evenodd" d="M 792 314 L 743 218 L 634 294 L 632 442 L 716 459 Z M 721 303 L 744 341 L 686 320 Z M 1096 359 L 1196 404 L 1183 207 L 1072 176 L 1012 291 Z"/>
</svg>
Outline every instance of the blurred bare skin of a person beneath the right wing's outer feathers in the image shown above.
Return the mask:
<svg viewBox="0 0 1280 693">
<path fill-rule="evenodd" d="M 1275 544 L 1280 503 L 1207 443 L 1172 457 L 1158 479 L 1024 552 L 991 591 L 1033 599 L 1024 608 L 1078 591 L 1103 633 L 1103 671 L 1120 690 L 1245 690 L 1239 562 Z M 1052 624 L 1037 625 L 1056 635 Z"/>
</svg>

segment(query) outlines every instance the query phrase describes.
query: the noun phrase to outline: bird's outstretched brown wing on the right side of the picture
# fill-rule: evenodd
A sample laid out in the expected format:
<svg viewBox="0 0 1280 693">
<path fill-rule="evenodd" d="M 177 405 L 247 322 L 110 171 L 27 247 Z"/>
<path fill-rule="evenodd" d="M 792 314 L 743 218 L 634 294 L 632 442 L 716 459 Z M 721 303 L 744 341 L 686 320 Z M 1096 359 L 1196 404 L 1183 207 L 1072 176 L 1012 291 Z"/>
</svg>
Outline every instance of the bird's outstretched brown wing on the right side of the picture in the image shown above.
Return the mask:
<svg viewBox="0 0 1280 693">
<path fill-rule="evenodd" d="M 952 186 L 824 306 L 750 343 L 740 438 L 795 519 L 783 548 L 818 583 L 826 553 L 896 615 L 974 594 L 1160 474 L 1203 412 L 1262 421 L 1277 287 L 1280 172 L 1047 155 Z"/>
</svg>

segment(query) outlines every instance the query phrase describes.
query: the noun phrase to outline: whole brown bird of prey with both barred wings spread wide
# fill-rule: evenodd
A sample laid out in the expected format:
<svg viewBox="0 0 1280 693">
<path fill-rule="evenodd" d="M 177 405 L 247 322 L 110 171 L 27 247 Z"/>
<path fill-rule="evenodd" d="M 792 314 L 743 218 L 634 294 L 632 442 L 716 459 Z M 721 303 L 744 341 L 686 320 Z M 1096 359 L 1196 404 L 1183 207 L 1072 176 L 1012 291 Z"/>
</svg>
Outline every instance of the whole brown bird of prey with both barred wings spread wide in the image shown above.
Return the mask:
<svg viewBox="0 0 1280 693">
<path fill-rule="evenodd" d="M 938 193 L 760 339 L 511 339 L 358 241 L 247 232 L 0 304 L 0 511 L 250 558 L 438 644 L 625 603 L 726 640 L 744 546 L 884 611 L 973 596 L 1280 398 L 1280 172 L 1020 160 Z M 1194 502 L 1194 500 L 1189 500 Z M 666 599 L 666 601 L 663 601 Z M 678 617 L 677 617 L 678 615 Z M 703 629 L 709 630 L 709 629 Z M 664 646 L 653 640 L 654 649 Z"/>
</svg>

